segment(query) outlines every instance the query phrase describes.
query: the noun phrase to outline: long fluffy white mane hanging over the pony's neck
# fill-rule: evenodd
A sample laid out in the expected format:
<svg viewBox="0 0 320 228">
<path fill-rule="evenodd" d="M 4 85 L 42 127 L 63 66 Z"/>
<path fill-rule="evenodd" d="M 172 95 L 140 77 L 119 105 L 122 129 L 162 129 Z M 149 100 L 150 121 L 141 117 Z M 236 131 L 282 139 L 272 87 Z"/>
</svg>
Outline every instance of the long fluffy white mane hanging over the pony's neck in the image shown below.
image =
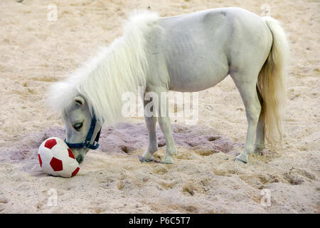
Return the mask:
<svg viewBox="0 0 320 228">
<path fill-rule="evenodd" d="M 65 110 L 82 95 L 100 123 L 114 125 L 122 117 L 122 94 L 146 85 L 148 69 L 145 35 L 159 16 L 149 11 L 134 13 L 124 24 L 124 33 L 103 47 L 65 81 L 50 87 L 50 105 Z"/>
</svg>

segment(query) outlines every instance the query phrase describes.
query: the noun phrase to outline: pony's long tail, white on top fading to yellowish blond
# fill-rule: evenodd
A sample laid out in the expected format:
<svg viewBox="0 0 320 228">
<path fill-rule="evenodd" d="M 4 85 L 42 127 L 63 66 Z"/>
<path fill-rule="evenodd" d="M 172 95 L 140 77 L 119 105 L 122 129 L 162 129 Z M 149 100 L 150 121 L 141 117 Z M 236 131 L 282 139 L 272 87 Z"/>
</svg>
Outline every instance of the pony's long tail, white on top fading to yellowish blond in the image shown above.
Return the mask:
<svg viewBox="0 0 320 228">
<path fill-rule="evenodd" d="M 262 19 L 270 28 L 273 43 L 267 61 L 259 73 L 258 87 L 263 100 L 265 138 L 274 146 L 277 143 L 282 144 L 282 114 L 287 100 L 285 79 L 289 46 L 279 22 L 270 16 Z"/>
</svg>

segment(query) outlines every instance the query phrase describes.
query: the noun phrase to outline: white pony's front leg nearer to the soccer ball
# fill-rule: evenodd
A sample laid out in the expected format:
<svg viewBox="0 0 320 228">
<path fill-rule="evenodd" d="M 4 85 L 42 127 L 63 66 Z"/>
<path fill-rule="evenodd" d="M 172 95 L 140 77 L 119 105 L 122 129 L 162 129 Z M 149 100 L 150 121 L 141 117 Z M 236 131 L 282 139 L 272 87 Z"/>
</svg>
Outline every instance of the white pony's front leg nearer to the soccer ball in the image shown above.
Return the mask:
<svg viewBox="0 0 320 228">
<path fill-rule="evenodd" d="M 144 100 L 144 108 L 149 102 L 152 101 Z M 154 152 L 158 150 L 158 142 L 156 140 L 156 117 L 153 115 L 149 117 L 144 114 L 144 120 L 146 121 L 146 128 L 148 129 L 148 148 L 140 158 L 140 161 L 151 162 L 154 160 Z"/>
</svg>

